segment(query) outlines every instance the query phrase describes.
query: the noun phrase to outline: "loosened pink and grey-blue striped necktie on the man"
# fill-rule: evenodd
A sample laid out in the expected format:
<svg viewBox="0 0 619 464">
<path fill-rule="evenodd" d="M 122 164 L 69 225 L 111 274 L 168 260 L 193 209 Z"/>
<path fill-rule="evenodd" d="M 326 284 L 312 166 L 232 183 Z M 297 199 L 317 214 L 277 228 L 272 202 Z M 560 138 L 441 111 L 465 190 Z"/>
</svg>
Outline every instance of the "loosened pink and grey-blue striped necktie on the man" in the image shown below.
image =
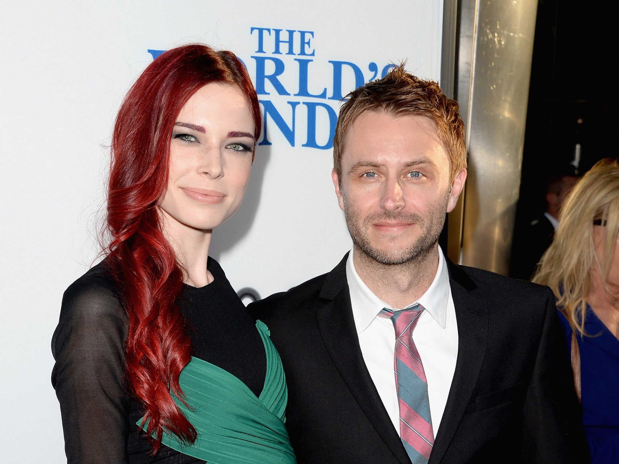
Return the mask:
<svg viewBox="0 0 619 464">
<path fill-rule="evenodd" d="M 389 317 L 396 329 L 394 373 L 400 406 L 400 438 L 413 464 L 427 464 L 434 444 L 428 382 L 413 342 L 413 330 L 422 311 L 423 306 L 416 304 L 401 311 L 384 308 L 380 314 Z"/>
</svg>

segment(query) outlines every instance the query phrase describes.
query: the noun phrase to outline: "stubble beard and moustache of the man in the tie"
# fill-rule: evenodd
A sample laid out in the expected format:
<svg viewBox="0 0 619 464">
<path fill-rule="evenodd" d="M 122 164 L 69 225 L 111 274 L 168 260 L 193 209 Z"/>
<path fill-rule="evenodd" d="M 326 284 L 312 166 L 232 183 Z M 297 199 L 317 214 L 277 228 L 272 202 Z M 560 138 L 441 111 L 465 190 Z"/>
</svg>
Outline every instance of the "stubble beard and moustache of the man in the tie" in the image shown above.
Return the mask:
<svg viewBox="0 0 619 464">
<path fill-rule="evenodd" d="M 362 223 L 359 221 L 360 213 L 350 205 L 347 195 L 342 195 L 346 225 L 348 226 L 348 232 L 352 238 L 353 245 L 367 257 L 370 257 L 380 264 L 398 265 L 423 260 L 438 242 L 438 238 L 443 230 L 450 194 L 451 189 L 449 189 L 445 195 L 443 202 L 437 205 L 435 210 L 431 212 L 427 220 L 415 213 L 388 212 L 381 210 L 381 212 L 371 213 L 366 216 Z M 420 236 L 409 247 L 403 250 L 378 249 L 373 246 L 369 234 L 367 233 L 371 224 L 378 220 L 396 220 L 405 223 L 415 223 L 420 230 Z M 397 244 L 399 239 L 399 236 L 394 236 L 391 239 L 391 243 Z"/>
</svg>

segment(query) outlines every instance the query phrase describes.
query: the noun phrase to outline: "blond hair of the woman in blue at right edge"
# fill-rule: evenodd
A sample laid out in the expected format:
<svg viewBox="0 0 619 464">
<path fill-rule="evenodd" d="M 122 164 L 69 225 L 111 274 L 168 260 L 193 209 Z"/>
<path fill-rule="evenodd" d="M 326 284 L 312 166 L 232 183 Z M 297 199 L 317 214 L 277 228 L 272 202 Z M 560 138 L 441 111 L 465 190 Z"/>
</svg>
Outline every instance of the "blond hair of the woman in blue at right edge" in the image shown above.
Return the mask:
<svg viewBox="0 0 619 464">
<path fill-rule="evenodd" d="M 594 221 L 605 226 L 604 258 L 595 254 Z M 619 163 L 600 160 L 578 181 L 566 197 L 552 244 L 543 254 L 533 281 L 548 285 L 573 330 L 584 333 L 584 308 L 591 293 L 593 270 L 608 288 L 619 234 Z"/>
</svg>

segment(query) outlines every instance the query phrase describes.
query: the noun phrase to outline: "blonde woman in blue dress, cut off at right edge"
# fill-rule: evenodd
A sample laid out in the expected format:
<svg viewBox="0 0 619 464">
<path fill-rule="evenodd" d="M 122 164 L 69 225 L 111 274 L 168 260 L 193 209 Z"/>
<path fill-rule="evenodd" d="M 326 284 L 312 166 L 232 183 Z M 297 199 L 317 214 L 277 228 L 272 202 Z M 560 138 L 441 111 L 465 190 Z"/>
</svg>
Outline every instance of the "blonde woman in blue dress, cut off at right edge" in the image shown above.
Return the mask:
<svg viewBox="0 0 619 464">
<path fill-rule="evenodd" d="M 619 462 L 619 163 L 576 184 L 533 280 L 555 293 L 594 464 Z"/>
</svg>

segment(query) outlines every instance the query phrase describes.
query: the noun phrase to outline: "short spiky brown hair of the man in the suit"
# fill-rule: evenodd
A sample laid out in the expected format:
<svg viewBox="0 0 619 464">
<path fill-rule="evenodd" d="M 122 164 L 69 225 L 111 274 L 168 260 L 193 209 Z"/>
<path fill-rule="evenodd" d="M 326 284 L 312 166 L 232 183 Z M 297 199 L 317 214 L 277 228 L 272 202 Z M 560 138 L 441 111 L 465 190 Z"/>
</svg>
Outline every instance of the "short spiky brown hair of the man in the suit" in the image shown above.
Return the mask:
<svg viewBox="0 0 619 464">
<path fill-rule="evenodd" d="M 426 116 L 434 121 L 436 132 L 449 157 L 451 178 L 466 169 L 464 123 L 456 100 L 447 98 L 433 80 L 424 80 L 396 66 L 382 79 L 368 82 L 344 97 L 333 137 L 333 168 L 342 179 L 342 153 L 350 126 L 365 111 L 384 111 L 392 116 Z"/>
</svg>

